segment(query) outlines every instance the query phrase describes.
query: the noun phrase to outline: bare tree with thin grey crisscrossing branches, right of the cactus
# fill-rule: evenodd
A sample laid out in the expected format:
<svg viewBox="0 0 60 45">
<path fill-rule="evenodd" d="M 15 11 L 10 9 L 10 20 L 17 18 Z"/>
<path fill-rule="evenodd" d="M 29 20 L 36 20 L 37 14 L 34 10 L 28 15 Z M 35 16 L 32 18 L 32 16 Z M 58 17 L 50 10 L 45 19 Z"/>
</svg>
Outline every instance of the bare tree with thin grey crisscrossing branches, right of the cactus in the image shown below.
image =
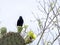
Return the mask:
<svg viewBox="0 0 60 45">
<path fill-rule="evenodd" d="M 40 28 L 39 31 L 41 31 L 40 33 L 38 33 L 39 40 L 37 45 L 39 45 L 39 43 L 42 41 L 41 39 L 44 39 L 43 45 L 53 45 L 56 40 L 59 40 L 60 36 L 59 0 L 37 0 L 37 3 L 38 3 L 37 5 L 38 17 L 36 18 L 35 13 L 34 12 L 32 13 L 36 21 L 38 22 L 38 26 Z M 41 13 L 42 15 L 40 15 L 39 13 Z M 42 16 L 42 18 L 40 18 L 40 16 Z M 48 40 L 49 39 L 48 37 L 50 36 L 52 38 Z M 45 44 L 45 42 L 47 42 L 47 44 Z"/>
</svg>

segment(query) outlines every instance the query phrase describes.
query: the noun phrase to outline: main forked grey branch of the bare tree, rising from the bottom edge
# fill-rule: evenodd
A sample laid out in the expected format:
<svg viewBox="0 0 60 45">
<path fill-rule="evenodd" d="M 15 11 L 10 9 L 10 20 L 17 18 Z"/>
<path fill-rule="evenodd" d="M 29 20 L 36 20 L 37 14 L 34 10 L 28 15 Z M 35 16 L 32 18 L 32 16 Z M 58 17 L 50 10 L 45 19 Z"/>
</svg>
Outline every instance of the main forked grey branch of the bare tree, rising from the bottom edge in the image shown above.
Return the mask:
<svg viewBox="0 0 60 45">
<path fill-rule="evenodd" d="M 41 4 L 40 4 L 41 5 Z M 42 6 L 42 5 L 41 5 Z M 44 5 L 45 6 L 45 5 Z M 51 7 L 51 11 L 53 11 L 53 13 L 54 13 L 54 8 L 55 8 L 55 6 L 56 6 L 56 2 L 54 3 L 54 6 L 52 7 L 52 6 L 50 6 Z M 46 12 L 46 9 L 45 8 L 43 8 L 44 9 L 44 11 Z M 51 12 L 50 11 L 50 12 Z M 47 17 L 46 17 L 46 21 L 45 21 L 45 25 L 44 25 L 44 28 L 43 28 L 43 32 L 42 32 L 42 34 L 41 34 L 41 36 L 40 36 L 40 39 L 39 39 L 39 41 L 38 41 L 38 43 L 37 43 L 37 45 L 39 45 L 39 42 L 40 42 L 40 40 L 41 40 L 41 38 L 43 37 L 43 34 L 44 34 L 44 32 L 45 32 L 45 30 L 49 27 L 49 25 L 53 22 L 53 20 L 55 19 L 55 18 L 57 18 L 57 16 L 58 15 L 56 15 L 55 13 L 54 13 L 54 17 L 53 17 L 53 19 L 49 22 L 49 24 L 46 26 L 46 23 L 47 23 L 47 21 L 48 21 L 48 18 L 49 18 L 49 13 L 50 12 L 48 12 L 48 13 L 46 13 L 47 14 Z"/>
</svg>

